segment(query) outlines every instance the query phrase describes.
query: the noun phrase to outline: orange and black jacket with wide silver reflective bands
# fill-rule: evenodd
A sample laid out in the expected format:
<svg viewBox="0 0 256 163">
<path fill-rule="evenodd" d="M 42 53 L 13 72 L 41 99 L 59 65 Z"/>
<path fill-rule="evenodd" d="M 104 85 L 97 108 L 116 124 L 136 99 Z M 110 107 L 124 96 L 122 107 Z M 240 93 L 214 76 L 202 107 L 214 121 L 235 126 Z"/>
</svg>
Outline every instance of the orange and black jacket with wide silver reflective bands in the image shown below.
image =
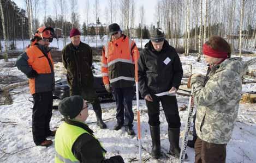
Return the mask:
<svg viewBox="0 0 256 163">
<path fill-rule="evenodd" d="M 109 41 L 102 51 L 103 83 L 112 87 L 134 86 L 136 43 L 126 35 L 115 41 Z M 139 52 L 138 52 L 139 55 Z"/>
</svg>

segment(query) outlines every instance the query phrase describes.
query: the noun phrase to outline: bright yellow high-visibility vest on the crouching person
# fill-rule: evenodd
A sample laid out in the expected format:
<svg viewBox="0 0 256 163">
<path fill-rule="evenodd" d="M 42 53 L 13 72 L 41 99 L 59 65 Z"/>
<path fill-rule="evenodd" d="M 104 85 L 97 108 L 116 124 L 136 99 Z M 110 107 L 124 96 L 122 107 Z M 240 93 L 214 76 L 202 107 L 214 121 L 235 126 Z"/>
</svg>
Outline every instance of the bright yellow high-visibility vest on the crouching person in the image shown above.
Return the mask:
<svg viewBox="0 0 256 163">
<path fill-rule="evenodd" d="M 90 134 L 83 128 L 63 122 L 55 135 L 55 162 L 79 162 L 72 153 L 76 139 L 82 134 Z M 90 134 L 91 135 L 91 134 Z M 94 137 L 94 135 L 92 135 Z M 96 137 L 94 137 L 96 139 Z M 100 145 L 101 146 L 101 145 Z M 88 147 L 90 148 L 90 147 Z M 103 157 L 105 152 L 102 153 Z"/>
</svg>

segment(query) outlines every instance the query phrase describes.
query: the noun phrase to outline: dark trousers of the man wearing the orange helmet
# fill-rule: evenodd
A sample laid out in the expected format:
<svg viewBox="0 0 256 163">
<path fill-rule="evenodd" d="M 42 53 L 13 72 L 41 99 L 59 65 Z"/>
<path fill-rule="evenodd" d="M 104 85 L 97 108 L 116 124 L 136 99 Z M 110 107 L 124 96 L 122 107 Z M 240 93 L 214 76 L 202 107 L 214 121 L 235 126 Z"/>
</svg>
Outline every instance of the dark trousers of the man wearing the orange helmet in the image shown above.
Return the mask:
<svg viewBox="0 0 256 163">
<path fill-rule="evenodd" d="M 51 133 L 52 91 L 34 93 L 33 100 L 32 134 L 35 145 L 40 145 Z"/>
</svg>

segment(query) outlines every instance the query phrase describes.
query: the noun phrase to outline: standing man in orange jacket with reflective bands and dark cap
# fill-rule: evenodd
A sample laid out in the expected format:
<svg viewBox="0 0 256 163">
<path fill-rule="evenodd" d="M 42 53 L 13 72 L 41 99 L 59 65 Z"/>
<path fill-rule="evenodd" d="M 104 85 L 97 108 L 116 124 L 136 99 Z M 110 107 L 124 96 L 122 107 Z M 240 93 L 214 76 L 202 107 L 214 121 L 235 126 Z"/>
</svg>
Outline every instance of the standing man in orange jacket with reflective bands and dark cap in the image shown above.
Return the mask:
<svg viewBox="0 0 256 163">
<path fill-rule="evenodd" d="M 132 101 L 135 95 L 135 51 L 138 53 L 138 48 L 134 41 L 122 34 L 117 23 L 109 25 L 109 34 L 110 41 L 102 51 L 102 76 L 106 90 L 112 91 L 117 105 L 117 124 L 114 130 L 124 126 L 128 135 L 135 135 Z"/>
</svg>

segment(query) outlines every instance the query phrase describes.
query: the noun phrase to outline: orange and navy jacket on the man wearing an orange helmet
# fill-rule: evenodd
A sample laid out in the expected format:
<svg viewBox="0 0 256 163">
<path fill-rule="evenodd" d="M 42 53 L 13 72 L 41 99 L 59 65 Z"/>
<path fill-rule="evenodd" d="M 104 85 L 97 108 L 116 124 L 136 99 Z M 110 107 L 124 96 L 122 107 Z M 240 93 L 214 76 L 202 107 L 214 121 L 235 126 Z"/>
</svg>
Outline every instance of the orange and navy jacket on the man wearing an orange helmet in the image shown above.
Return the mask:
<svg viewBox="0 0 256 163">
<path fill-rule="evenodd" d="M 37 71 L 38 76 L 28 79 L 31 94 L 52 91 L 55 86 L 53 61 L 51 53 L 44 55 L 36 46 L 26 49 L 26 52 L 17 58 L 16 66 L 23 73 L 27 74 L 31 68 Z"/>
</svg>

